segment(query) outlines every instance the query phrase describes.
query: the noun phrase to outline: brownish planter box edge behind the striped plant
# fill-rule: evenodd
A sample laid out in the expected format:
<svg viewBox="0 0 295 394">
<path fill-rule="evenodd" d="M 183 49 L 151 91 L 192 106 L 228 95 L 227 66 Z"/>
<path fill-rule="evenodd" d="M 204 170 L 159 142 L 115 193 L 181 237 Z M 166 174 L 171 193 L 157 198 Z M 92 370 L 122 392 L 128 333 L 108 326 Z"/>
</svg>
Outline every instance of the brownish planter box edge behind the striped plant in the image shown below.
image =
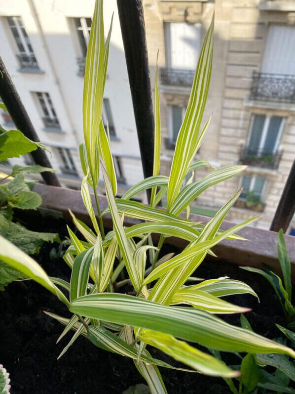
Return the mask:
<svg viewBox="0 0 295 394">
<path fill-rule="evenodd" d="M 86 224 L 91 225 L 86 208 L 83 204 L 81 193 L 78 190 L 66 189 L 55 186 L 48 186 L 37 183 L 34 191 L 39 193 L 42 197 L 41 207 L 46 210 L 52 210 L 56 214 L 61 215 L 66 220 L 72 221 L 68 209 L 70 208 L 74 215 L 85 221 Z M 94 210 L 95 199 L 92 197 L 92 203 Z M 105 196 L 99 196 L 99 204 L 101 211 L 103 212 L 107 206 L 107 198 Z M 163 209 L 162 207 L 158 207 Z M 180 216 L 185 217 L 185 214 Z M 106 228 L 112 228 L 111 215 L 104 216 L 104 225 Z M 190 219 L 193 221 L 201 221 L 206 223 L 210 218 L 201 215 L 190 215 Z M 133 218 L 125 218 L 124 224 L 131 226 L 133 224 L 140 223 L 141 220 Z M 221 229 L 226 230 L 232 227 L 235 223 L 224 221 L 221 225 Z M 280 265 L 277 256 L 277 233 L 273 231 L 262 230 L 256 227 L 245 227 L 239 234 L 249 241 L 238 241 L 238 240 L 224 240 L 219 245 L 213 248 L 218 258 L 212 258 L 215 261 L 226 260 L 229 263 L 237 265 L 249 265 L 253 267 L 262 267 L 262 263 L 266 263 L 271 266 L 276 272 L 281 272 Z M 155 235 L 157 239 L 157 235 Z M 295 242 L 294 237 L 291 235 L 285 235 L 287 249 L 289 251 L 290 260 L 295 267 Z M 167 244 L 174 245 L 178 248 L 184 248 L 187 242 L 179 238 L 169 237 L 165 241 Z M 210 258 L 208 256 L 208 258 Z M 292 269 L 292 280 L 295 282 L 295 268 Z"/>
</svg>

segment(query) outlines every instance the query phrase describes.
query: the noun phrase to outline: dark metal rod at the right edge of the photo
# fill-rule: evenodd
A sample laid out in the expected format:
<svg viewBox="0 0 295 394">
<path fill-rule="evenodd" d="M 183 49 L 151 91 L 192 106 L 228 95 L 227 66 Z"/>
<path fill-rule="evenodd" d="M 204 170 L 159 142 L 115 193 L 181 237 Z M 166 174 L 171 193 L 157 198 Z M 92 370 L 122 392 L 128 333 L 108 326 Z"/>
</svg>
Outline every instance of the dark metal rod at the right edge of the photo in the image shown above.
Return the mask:
<svg viewBox="0 0 295 394">
<path fill-rule="evenodd" d="M 272 219 L 270 226 L 271 231 L 279 231 L 283 229 L 284 233 L 287 231 L 290 221 L 295 213 L 295 160 L 291 167 L 289 176 L 287 178 L 283 193 L 276 213 Z"/>
</svg>

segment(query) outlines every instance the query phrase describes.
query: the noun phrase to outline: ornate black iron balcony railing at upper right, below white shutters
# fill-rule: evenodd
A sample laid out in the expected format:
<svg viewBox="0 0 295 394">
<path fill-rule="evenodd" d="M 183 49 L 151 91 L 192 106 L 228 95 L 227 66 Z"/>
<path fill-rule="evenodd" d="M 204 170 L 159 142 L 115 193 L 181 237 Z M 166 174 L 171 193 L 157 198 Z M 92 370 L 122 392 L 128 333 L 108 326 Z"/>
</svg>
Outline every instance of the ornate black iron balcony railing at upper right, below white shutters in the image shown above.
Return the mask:
<svg viewBox="0 0 295 394">
<path fill-rule="evenodd" d="M 250 100 L 295 103 L 295 75 L 253 72 Z"/>
</svg>

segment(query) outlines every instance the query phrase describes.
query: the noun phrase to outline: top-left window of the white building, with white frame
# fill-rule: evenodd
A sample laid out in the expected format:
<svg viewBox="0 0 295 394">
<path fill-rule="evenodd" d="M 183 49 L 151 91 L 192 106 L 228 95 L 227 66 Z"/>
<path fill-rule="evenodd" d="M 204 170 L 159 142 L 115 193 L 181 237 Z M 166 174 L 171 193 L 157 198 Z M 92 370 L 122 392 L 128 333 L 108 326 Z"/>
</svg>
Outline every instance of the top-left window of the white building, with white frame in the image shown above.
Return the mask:
<svg viewBox="0 0 295 394">
<path fill-rule="evenodd" d="M 7 21 L 18 49 L 21 68 L 38 69 L 37 60 L 20 16 L 8 16 Z"/>
</svg>

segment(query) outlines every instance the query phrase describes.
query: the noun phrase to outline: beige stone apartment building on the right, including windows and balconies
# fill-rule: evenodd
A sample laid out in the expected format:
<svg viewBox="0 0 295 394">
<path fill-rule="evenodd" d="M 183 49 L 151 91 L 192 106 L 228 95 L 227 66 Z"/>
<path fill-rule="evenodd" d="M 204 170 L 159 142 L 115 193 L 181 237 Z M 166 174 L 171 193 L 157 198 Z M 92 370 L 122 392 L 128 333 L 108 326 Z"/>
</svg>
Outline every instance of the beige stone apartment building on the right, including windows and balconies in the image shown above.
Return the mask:
<svg viewBox="0 0 295 394">
<path fill-rule="evenodd" d="M 241 186 L 228 220 L 266 214 L 269 229 L 295 158 L 295 1 L 144 0 L 151 75 L 159 49 L 161 169 L 168 175 L 201 44 L 215 10 L 211 87 L 196 157 L 216 167 L 247 164 L 233 179 L 198 197 L 196 212 L 220 208 Z M 152 81 L 152 85 L 154 80 Z M 194 180 L 208 174 L 196 171 Z M 295 220 L 289 232 L 294 231 Z"/>
</svg>

